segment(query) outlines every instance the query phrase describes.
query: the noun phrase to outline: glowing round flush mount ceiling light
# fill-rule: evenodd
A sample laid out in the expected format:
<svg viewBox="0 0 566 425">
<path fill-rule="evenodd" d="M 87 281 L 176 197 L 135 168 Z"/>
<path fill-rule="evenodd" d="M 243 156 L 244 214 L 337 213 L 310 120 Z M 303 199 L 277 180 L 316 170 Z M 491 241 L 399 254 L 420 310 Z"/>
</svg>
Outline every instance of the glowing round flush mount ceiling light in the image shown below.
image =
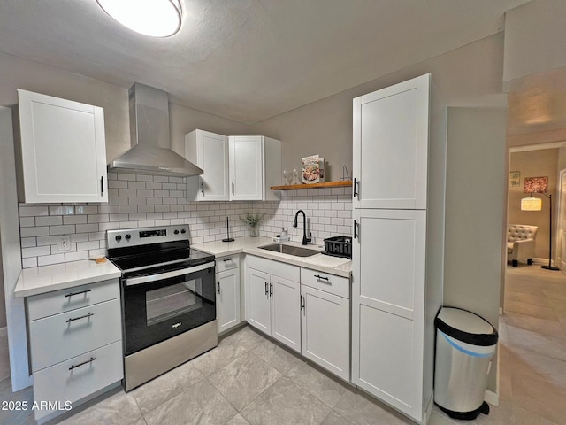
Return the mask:
<svg viewBox="0 0 566 425">
<path fill-rule="evenodd" d="M 113 19 L 136 33 L 168 37 L 180 29 L 180 0 L 96 0 Z"/>
</svg>

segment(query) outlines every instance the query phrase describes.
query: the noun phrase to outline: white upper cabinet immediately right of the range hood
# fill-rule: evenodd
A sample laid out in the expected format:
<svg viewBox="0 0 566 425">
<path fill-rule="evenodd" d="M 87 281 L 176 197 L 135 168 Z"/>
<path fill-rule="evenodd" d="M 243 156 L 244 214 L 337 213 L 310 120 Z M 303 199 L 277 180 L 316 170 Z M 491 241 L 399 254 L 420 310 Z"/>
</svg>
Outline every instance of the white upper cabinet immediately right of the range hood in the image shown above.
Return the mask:
<svg viewBox="0 0 566 425">
<path fill-rule="evenodd" d="M 228 137 L 195 130 L 185 135 L 185 158 L 203 168 L 204 174 L 191 177 L 198 189 L 187 190 L 191 201 L 230 200 Z"/>
</svg>

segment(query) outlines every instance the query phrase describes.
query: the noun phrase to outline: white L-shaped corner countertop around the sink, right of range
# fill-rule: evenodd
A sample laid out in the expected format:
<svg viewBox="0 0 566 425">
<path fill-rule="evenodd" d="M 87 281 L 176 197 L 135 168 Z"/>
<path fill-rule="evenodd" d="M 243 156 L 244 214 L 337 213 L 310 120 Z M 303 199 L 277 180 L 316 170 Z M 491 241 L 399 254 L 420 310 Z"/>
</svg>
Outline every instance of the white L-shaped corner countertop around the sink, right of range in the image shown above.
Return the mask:
<svg viewBox="0 0 566 425">
<path fill-rule="evenodd" d="M 294 255 L 282 254 L 274 251 L 267 251 L 258 248 L 259 246 L 268 245 L 274 243 L 269 237 L 238 237 L 233 242 L 206 242 L 206 243 L 195 243 L 191 245 L 196 250 L 208 252 L 215 255 L 216 257 L 224 257 L 226 255 L 239 254 L 241 252 L 251 255 L 256 255 L 257 257 L 263 257 L 264 259 L 274 259 L 276 261 L 281 261 L 288 264 L 293 264 L 294 266 L 306 267 L 312 270 L 317 270 L 323 273 L 336 274 L 342 277 L 350 277 L 350 271 L 352 269 L 352 260 L 342 259 L 339 257 L 331 257 L 325 254 L 315 254 L 310 257 L 296 257 Z M 323 251 L 323 245 L 307 245 L 304 246 L 301 243 L 296 242 L 286 242 L 286 245 L 300 246 L 302 248 L 308 248 L 310 250 Z"/>
</svg>

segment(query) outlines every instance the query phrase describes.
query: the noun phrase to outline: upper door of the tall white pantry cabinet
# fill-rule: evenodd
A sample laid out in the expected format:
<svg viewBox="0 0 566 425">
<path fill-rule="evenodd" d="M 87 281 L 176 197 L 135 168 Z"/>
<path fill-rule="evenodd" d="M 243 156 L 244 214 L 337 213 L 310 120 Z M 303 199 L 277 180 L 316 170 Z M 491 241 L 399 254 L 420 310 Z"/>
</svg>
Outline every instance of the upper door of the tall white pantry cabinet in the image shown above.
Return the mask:
<svg viewBox="0 0 566 425">
<path fill-rule="evenodd" d="M 354 208 L 425 209 L 430 75 L 354 99 Z"/>
</svg>

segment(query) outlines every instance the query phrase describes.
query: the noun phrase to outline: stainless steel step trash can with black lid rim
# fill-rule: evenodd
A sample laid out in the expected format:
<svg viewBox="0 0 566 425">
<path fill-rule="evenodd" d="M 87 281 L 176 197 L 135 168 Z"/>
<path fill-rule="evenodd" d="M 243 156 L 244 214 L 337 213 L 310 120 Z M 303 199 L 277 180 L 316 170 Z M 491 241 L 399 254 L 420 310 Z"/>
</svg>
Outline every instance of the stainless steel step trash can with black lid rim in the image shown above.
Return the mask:
<svg viewBox="0 0 566 425">
<path fill-rule="evenodd" d="M 488 414 L 484 396 L 497 331 L 477 314 L 454 307 L 442 307 L 434 325 L 434 403 L 455 419 Z"/>
</svg>

